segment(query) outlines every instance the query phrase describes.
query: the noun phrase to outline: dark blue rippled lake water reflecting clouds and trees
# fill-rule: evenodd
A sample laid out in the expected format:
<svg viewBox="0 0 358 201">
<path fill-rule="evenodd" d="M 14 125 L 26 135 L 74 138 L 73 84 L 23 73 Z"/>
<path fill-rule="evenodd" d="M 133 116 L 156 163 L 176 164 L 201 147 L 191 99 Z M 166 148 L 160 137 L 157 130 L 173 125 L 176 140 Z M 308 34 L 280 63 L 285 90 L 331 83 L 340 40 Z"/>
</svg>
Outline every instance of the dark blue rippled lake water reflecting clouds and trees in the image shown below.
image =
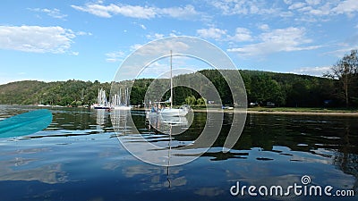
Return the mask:
<svg viewBox="0 0 358 201">
<path fill-rule="evenodd" d="M 0 106 L 0 119 L 38 109 Z M 209 151 L 191 163 L 165 167 L 131 155 L 118 138 L 139 143 L 132 128 L 115 132 L 108 112 L 48 108 L 54 115 L 46 130 L 26 137 L 0 138 L 0 200 L 357 200 L 358 118 L 324 115 L 248 114 L 234 148 L 222 150 L 233 113 Z M 146 115 L 132 111 L 142 136 L 157 144 L 168 137 L 150 130 Z M 187 145 L 205 126 L 206 113 L 194 113 L 191 126 L 171 138 Z M 116 126 L 116 125 L 115 125 Z M 153 154 L 154 152 L 151 152 Z M 181 157 L 181 156 L 177 156 Z M 184 156 L 183 156 L 184 157 Z M 303 184 L 303 176 L 311 182 Z M 307 179 L 307 178 L 306 178 Z M 239 182 L 237 182 L 239 181 Z M 331 186 L 332 197 L 294 195 L 233 196 L 230 188 Z M 234 186 L 234 187 L 233 187 Z M 263 188 L 262 188 L 263 189 Z M 304 190 L 304 188 L 302 188 Z M 337 190 L 354 197 L 333 197 Z M 269 192 L 268 192 L 269 193 Z"/>
</svg>

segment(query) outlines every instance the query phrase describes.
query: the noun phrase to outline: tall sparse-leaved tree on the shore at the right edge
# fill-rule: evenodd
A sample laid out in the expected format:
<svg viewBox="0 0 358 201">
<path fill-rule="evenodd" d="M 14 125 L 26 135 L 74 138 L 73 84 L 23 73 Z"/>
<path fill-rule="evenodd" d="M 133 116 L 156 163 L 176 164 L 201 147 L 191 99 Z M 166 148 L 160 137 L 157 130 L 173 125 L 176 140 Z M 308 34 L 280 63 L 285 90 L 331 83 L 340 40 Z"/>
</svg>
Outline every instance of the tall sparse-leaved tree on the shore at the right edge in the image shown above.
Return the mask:
<svg viewBox="0 0 358 201">
<path fill-rule="evenodd" d="M 350 54 L 340 59 L 335 65 L 333 65 L 324 76 L 339 80 L 340 87 L 343 89 L 343 95 L 345 99 L 345 106 L 348 107 L 350 99 L 356 99 L 356 94 L 351 95 L 354 88 L 357 86 L 357 73 L 358 73 L 358 51 L 351 50 Z"/>
</svg>

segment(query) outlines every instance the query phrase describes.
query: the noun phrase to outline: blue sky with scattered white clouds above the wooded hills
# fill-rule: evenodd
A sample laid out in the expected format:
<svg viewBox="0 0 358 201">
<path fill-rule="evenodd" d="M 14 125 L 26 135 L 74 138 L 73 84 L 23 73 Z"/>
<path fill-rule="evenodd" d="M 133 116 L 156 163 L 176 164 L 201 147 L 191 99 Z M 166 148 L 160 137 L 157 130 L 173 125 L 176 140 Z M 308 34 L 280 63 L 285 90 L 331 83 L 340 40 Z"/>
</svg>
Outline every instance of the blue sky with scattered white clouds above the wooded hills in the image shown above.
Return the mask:
<svg viewBox="0 0 358 201">
<path fill-rule="evenodd" d="M 4 0 L 0 84 L 112 81 L 138 47 L 189 36 L 238 69 L 321 76 L 358 48 L 356 0 Z"/>
</svg>

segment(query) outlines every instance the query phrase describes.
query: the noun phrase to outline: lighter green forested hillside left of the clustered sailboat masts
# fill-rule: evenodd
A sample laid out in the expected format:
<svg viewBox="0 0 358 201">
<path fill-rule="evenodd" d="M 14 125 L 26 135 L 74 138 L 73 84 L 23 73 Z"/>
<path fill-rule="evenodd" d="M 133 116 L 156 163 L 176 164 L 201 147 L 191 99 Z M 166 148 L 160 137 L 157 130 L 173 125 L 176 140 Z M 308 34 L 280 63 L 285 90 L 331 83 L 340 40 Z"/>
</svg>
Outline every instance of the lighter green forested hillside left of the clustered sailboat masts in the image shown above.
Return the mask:
<svg viewBox="0 0 358 201">
<path fill-rule="evenodd" d="M 0 104 L 90 105 L 97 101 L 98 88 L 109 92 L 110 84 L 81 80 L 17 81 L 0 86 Z"/>
</svg>

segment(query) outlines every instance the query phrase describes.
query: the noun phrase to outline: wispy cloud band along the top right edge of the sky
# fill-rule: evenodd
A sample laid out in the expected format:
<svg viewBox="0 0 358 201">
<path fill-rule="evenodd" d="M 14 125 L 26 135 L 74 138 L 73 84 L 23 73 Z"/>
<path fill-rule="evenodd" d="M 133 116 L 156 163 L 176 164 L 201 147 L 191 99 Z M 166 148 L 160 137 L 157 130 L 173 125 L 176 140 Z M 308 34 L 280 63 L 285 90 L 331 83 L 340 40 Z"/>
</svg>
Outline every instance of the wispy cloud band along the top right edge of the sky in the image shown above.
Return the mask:
<svg viewBox="0 0 358 201">
<path fill-rule="evenodd" d="M 281 0 L 280 0 L 281 1 Z M 206 0 L 221 15 L 263 15 L 266 18 L 287 18 L 294 21 L 331 21 L 333 16 L 345 14 L 353 18 L 358 13 L 357 0 Z"/>
</svg>

